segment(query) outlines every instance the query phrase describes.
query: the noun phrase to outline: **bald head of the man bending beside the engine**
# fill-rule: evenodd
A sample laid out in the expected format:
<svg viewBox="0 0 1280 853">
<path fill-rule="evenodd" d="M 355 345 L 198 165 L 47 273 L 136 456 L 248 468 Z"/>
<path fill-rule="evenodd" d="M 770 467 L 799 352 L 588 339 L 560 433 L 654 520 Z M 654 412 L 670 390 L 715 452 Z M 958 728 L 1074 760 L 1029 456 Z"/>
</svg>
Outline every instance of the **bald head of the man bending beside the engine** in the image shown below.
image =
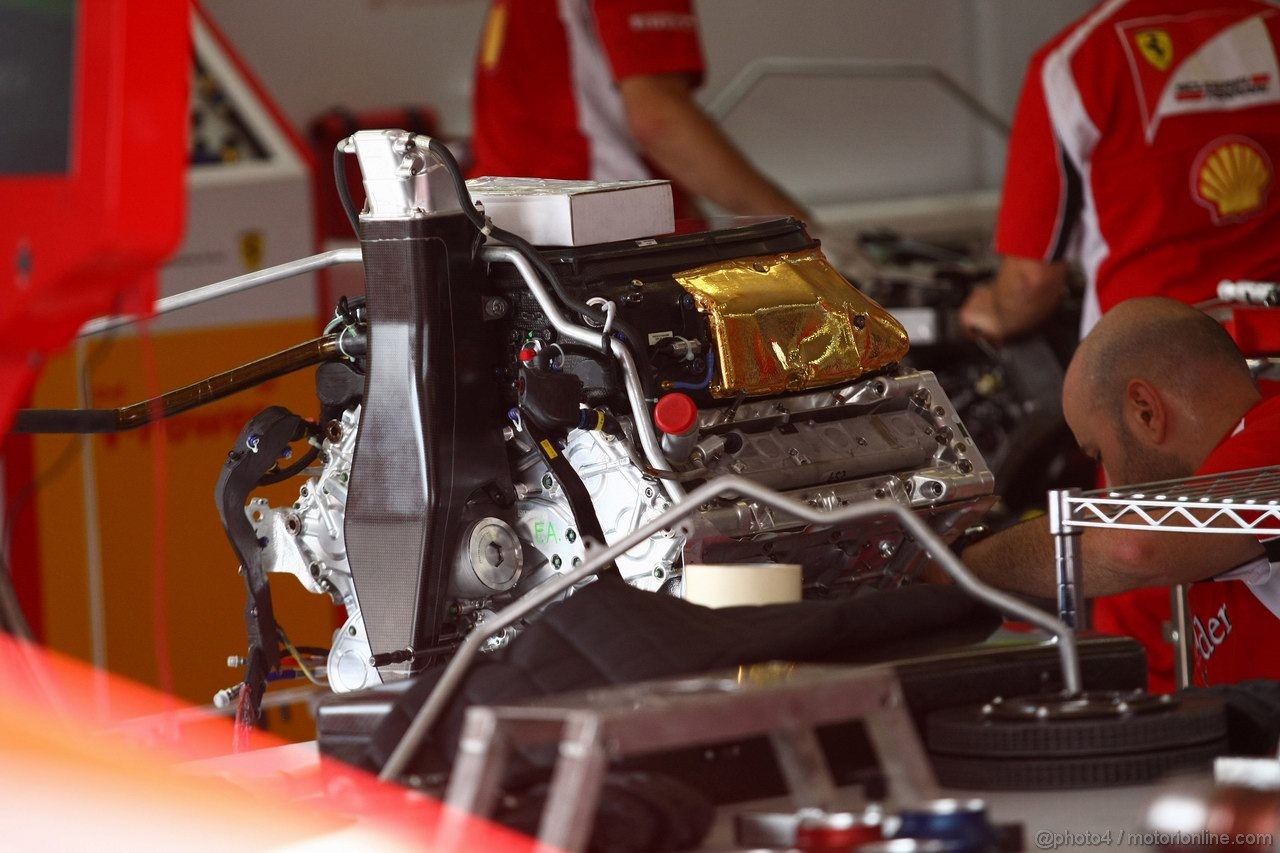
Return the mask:
<svg viewBox="0 0 1280 853">
<path fill-rule="evenodd" d="M 1121 302 L 1080 342 L 1062 410 L 1112 485 L 1189 476 L 1258 401 L 1244 356 L 1206 314 Z"/>
</svg>

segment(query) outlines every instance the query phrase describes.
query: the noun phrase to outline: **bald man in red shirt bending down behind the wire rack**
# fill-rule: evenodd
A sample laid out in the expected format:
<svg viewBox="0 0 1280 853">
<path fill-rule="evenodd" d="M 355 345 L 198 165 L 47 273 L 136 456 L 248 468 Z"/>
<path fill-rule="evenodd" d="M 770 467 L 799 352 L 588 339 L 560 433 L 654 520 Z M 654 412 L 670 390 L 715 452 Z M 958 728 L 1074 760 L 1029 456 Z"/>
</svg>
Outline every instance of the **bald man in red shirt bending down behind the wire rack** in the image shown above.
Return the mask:
<svg viewBox="0 0 1280 853">
<path fill-rule="evenodd" d="M 1280 464 L 1280 396 L 1262 398 L 1222 327 L 1174 300 L 1129 300 L 1106 314 L 1068 368 L 1062 409 L 1112 485 Z M 1280 540 L 1098 528 L 1080 540 L 1091 597 L 1193 584 L 1198 685 L 1280 678 Z M 1004 589 L 1056 592 L 1046 517 L 961 558 Z"/>
</svg>

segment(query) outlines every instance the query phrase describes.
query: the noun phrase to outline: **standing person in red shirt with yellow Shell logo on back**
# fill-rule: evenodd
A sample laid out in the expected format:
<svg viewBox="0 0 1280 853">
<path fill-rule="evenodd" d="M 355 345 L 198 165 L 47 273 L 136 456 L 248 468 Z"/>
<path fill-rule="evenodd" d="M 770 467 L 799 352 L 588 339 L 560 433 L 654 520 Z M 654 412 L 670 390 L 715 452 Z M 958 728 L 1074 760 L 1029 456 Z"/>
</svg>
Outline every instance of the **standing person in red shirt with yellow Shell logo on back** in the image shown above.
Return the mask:
<svg viewBox="0 0 1280 853">
<path fill-rule="evenodd" d="M 1084 268 L 1082 333 L 1137 296 L 1196 304 L 1280 275 L 1280 9 L 1261 0 L 1106 0 L 1032 58 L 1014 118 L 993 284 L 960 311 L 1005 341 Z M 1167 590 L 1100 599 L 1172 689 Z"/>
</svg>

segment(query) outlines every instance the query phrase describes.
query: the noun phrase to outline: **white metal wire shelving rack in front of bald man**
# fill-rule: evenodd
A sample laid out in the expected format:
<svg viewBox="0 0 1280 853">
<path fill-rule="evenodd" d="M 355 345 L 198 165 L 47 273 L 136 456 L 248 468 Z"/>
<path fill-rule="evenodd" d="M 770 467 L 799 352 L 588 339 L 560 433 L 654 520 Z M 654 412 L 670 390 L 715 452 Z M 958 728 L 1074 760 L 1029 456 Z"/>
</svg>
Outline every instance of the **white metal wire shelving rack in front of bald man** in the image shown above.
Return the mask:
<svg viewBox="0 0 1280 853">
<path fill-rule="evenodd" d="M 1119 489 L 1050 492 L 1059 617 L 1085 625 L 1079 537 L 1089 528 L 1280 535 L 1280 465 Z M 1187 589 L 1174 589 L 1179 686 L 1190 683 Z"/>
</svg>

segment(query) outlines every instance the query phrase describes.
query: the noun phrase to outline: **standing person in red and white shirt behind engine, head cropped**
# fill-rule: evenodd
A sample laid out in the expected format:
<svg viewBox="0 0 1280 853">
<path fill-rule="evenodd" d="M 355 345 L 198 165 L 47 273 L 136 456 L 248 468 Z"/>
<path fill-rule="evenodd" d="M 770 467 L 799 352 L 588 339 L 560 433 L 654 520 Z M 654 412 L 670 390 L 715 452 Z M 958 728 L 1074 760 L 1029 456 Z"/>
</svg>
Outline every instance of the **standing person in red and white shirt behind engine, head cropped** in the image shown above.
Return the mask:
<svg viewBox="0 0 1280 853">
<path fill-rule="evenodd" d="M 694 101 L 691 0 L 494 0 L 476 60 L 472 175 L 669 178 L 677 215 L 805 210 Z"/>
</svg>

